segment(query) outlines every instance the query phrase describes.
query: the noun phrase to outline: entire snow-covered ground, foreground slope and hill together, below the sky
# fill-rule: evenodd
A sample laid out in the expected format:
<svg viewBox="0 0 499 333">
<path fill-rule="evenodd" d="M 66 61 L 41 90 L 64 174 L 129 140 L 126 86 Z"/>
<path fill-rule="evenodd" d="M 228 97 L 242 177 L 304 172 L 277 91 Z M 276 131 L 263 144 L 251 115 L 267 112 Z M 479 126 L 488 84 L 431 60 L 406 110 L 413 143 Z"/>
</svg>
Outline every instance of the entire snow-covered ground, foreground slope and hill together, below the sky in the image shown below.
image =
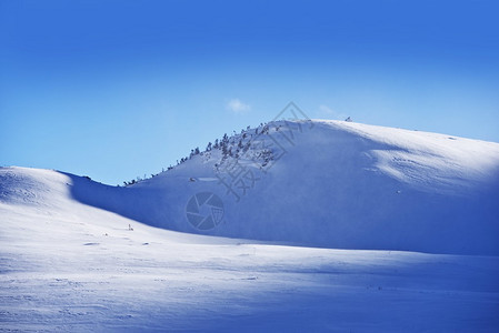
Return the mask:
<svg viewBox="0 0 499 333">
<path fill-rule="evenodd" d="M 498 175 L 498 143 L 339 121 L 129 186 L 1 168 L 0 331 L 495 332 Z"/>
</svg>

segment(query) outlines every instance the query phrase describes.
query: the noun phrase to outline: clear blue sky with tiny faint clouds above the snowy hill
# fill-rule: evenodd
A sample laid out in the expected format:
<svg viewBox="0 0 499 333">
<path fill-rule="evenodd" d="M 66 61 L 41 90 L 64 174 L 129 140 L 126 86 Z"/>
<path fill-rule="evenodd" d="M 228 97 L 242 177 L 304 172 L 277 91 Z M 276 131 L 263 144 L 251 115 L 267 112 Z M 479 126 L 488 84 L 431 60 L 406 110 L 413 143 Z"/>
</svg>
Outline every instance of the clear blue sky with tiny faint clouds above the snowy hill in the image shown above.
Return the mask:
<svg viewBox="0 0 499 333">
<path fill-rule="evenodd" d="M 110 184 L 273 118 L 499 142 L 497 1 L 0 0 L 0 164 Z"/>
</svg>

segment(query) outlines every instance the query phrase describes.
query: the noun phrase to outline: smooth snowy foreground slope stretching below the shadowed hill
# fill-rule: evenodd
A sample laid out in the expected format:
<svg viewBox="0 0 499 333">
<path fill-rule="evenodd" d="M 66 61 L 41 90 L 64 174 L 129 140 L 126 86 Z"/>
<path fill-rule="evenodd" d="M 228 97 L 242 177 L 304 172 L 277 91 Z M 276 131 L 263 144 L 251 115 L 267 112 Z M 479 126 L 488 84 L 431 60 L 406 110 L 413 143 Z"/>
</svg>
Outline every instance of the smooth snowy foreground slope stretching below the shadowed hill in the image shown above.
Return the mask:
<svg viewBox="0 0 499 333">
<path fill-rule="evenodd" d="M 498 256 L 210 238 L 73 199 L 78 189 L 79 198 L 117 204 L 126 193 L 140 208 L 133 193 L 151 198 L 154 186 L 164 191 L 161 182 L 201 185 L 181 173 L 194 162 L 182 164 L 177 179 L 128 189 L 50 170 L 0 169 L 0 331 L 497 332 Z"/>
</svg>

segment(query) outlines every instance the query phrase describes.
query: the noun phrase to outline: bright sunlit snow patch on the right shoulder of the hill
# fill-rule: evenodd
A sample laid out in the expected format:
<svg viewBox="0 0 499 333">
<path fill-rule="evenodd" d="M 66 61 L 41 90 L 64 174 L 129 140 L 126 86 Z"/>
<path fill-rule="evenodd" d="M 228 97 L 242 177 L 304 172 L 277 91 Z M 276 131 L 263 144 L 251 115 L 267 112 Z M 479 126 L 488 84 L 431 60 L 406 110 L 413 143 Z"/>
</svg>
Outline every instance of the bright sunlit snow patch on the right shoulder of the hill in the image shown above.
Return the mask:
<svg viewBox="0 0 499 333">
<path fill-rule="evenodd" d="M 378 170 L 420 190 L 462 194 L 498 184 L 498 143 L 359 123 L 342 128 L 383 144 L 371 151 Z"/>
</svg>

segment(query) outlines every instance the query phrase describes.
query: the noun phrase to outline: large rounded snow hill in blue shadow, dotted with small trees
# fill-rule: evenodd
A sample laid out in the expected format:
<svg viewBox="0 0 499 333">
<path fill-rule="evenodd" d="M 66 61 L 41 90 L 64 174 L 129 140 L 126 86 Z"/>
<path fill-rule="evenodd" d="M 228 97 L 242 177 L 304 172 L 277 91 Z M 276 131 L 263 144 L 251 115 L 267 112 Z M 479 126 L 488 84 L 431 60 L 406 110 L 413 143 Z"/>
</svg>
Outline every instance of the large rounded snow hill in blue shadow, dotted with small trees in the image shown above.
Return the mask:
<svg viewBox="0 0 499 333">
<path fill-rule="evenodd" d="M 232 158 L 213 149 L 127 188 L 68 174 L 68 190 L 82 203 L 181 232 L 499 254 L 498 143 L 341 121 L 278 121 L 234 135 L 227 147 Z M 199 212 L 199 223 L 213 214 L 204 226 L 188 220 L 197 193 L 222 202 Z"/>
</svg>

